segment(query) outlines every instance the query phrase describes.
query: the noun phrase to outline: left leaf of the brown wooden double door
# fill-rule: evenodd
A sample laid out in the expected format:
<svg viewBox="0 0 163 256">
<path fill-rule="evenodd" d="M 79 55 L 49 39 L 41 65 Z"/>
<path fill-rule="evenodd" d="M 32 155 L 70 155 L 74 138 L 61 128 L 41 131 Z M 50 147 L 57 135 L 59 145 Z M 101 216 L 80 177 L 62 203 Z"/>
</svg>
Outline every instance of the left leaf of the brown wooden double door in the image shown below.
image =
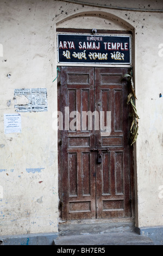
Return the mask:
<svg viewBox="0 0 163 256">
<path fill-rule="evenodd" d="M 70 113 L 93 112 L 93 72 L 92 68 L 61 68 L 61 112 L 64 115 L 65 106 Z M 62 220 L 96 217 L 95 156 L 91 152 L 93 127 L 88 131 L 86 122 L 86 130 L 82 130 L 85 127 L 82 117 L 76 124 L 75 117 L 75 113 L 70 115 L 69 129 L 61 131 Z M 77 129 L 72 130 L 71 124 Z"/>
</svg>

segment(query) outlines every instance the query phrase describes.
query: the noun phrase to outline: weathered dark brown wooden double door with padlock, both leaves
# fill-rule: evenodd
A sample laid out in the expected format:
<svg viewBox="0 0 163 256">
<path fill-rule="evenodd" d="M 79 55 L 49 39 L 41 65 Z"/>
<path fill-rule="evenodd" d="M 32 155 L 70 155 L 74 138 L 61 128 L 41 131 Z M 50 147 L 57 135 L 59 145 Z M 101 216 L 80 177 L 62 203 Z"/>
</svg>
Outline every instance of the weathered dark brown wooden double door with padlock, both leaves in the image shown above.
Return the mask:
<svg viewBox="0 0 163 256">
<path fill-rule="evenodd" d="M 131 216 L 128 86 L 120 82 L 126 72 L 127 68 L 60 68 L 62 220 Z M 110 134 L 100 123 L 103 112 L 107 126 L 107 111 Z"/>
</svg>

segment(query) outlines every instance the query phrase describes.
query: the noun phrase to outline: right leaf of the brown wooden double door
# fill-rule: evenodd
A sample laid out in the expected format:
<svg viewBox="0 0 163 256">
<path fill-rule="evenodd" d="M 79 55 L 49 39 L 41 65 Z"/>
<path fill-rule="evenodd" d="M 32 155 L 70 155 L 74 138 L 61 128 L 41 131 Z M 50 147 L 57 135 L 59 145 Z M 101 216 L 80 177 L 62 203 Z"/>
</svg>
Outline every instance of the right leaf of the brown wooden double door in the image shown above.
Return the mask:
<svg viewBox="0 0 163 256">
<path fill-rule="evenodd" d="M 96 131 L 96 147 L 103 150 L 103 164 L 96 167 L 97 218 L 130 216 L 128 105 L 126 104 L 128 88 L 126 83 L 120 83 L 126 71 L 122 68 L 95 69 L 96 109 L 111 112 L 110 135 L 105 136 L 103 133 L 104 136 L 101 136 L 101 130 Z M 106 187 L 109 193 L 104 193 L 103 188 Z"/>
</svg>

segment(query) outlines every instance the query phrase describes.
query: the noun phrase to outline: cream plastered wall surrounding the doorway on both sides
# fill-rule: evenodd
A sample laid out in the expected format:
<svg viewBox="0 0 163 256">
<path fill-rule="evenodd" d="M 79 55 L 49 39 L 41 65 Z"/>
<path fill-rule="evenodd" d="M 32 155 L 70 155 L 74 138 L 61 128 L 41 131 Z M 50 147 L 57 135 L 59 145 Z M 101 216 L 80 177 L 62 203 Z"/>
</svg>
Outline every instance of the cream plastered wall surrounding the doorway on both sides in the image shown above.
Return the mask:
<svg viewBox="0 0 163 256">
<path fill-rule="evenodd" d="M 159 97 L 163 95 L 163 54 L 159 48 L 163 44 L 162 13 L 52 0 L 0 2 L 1 234 L 58 230 L 57 132 L 53 126 L 57 110 L 57 80 L 53 80 L 57 76 L 58 27 L 133 31 L 140 116 L 135 146 L 136 225 L 163 225 L 163 97 Z M 116 2 L 117 6 L 128 4 Z M 158 9 L 159 3 L 153 2 L 153 8 Z M 146 1 L 133 4 L 135 8 L 149 8 Z M 48 111 L 21 112 L 21 133 L 5 134 L 4 114 L 17 113 L 14 105 L 19 99 L 15 99 L 14 90 L 21 88 L 46 88 Z"/>
</svg>

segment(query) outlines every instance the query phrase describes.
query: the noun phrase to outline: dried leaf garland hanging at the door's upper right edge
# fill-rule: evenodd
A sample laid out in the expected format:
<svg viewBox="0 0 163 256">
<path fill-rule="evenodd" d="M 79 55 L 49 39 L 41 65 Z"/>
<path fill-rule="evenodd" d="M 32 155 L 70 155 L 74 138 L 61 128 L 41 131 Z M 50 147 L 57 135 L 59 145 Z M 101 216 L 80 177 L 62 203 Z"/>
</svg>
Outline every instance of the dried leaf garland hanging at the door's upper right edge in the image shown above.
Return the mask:
<svg viewBox="0 0 163 256">
<path fill-rule="evenodd" d="M 131 139 L 131 145 L 133 145 L 136 142 L 137 136 L 138 136 L 138 130 L 139 130 L 139 116 L 137 115 L 137 111 L 136 111 L 136 106 L 135 106 L 135 99 L 136 95 L 135 95 L 135 89 L 134 89 L 134 82 L 133 82 L 133 76 L 132 76 L 132 70 L 129 71 L 128 74 L 124 74 L 124 76 L 122 77 L 128 78 L 128 82 L 130 85 L 130 93 L 127 97 L 127 104 L 131 104 L 131 107 L 133 109 L 133 113 L 131 114 L 131 117 L 133 117 L 133 121 L 131 123 L 131 127 L 130 127 L 130 139 Z M 122 80 L 121 79 L 121 80 Z"/>
</svg>

